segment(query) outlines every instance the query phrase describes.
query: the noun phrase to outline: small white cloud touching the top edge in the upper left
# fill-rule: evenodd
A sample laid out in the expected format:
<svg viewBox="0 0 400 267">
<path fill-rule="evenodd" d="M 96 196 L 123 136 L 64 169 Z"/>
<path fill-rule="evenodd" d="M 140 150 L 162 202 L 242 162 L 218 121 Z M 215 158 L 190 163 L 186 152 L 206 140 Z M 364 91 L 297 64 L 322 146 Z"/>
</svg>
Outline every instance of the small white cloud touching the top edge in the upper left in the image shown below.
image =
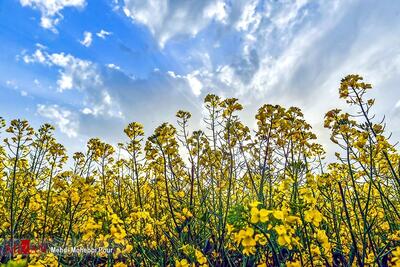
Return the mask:
<svg viewBox="0 0 400 267">
<path fill-rule="evenodd" d="M 20 0 L 22 6 L 38 9 L 41 13 L 40 25 L 57 32 L 55 26 L 63 18 L 61 11 L 67 7 L 83 8 L 85 0 Z"/>
</svg>

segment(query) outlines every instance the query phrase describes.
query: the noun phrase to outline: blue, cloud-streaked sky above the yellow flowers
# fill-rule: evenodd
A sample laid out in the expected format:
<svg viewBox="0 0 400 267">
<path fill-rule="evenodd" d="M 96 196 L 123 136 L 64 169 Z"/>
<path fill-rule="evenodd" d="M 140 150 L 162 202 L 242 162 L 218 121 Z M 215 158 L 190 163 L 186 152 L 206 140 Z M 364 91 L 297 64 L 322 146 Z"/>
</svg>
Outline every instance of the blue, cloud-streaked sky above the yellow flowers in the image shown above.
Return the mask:
<svg viewBox="0 0 400 267">
<path fill-rule="evenodd" d="M 207 93 L 298 106 L 320 142 L 344 107 L 346 74 L 372 83 L 400 140 L 400 2 L 394 0 L 2 0 L 0 116 L 51 122 L 70 150 L 90 137 L 147 133 L 179 109 L 202 127 Z"/>
</svg>

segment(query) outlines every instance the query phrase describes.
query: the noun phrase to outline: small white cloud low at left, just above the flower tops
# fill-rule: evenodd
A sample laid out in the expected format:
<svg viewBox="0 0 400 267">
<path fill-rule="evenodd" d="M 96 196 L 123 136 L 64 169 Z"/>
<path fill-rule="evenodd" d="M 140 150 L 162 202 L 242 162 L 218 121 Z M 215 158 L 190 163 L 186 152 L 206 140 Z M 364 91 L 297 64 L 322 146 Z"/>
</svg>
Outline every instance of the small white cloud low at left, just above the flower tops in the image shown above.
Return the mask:
<svg viewBox="0 0 400 267">
<path fill-rule="evenodd" d="M 62 133 L 69 138 L 77 137 L 79 130 L 79 121 L 77 114 L 62 108 L 58 105 L 43 105 L 38 104 L 36 108 L 37 113 L 52 123 L 55 123 Z"/>
</svg>

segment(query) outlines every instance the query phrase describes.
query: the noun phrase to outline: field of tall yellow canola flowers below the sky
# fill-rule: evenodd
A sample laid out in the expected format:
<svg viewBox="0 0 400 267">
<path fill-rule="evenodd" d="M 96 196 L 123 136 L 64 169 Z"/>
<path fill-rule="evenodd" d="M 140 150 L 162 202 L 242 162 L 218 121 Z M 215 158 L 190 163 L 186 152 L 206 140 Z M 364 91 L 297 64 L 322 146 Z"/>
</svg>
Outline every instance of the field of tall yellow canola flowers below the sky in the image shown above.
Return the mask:
<svg viewBox="0 0 400 267">
<path fill-rule="evenodd" d="M 5 266 L 400 266 L 400 154 L 367 99 L 342 79 L 353 113 L 324 126 L 327 163 L 299 108 L 266 104 L 251 130 L 235 98 L 207 95 L 204 131 L 177 113 L 145 138 L 93 138 L 67 152 L 54 127 L 0 118 L 0 241 L 58 240 L 95 255 L 10 251 Z"/>
</svg>

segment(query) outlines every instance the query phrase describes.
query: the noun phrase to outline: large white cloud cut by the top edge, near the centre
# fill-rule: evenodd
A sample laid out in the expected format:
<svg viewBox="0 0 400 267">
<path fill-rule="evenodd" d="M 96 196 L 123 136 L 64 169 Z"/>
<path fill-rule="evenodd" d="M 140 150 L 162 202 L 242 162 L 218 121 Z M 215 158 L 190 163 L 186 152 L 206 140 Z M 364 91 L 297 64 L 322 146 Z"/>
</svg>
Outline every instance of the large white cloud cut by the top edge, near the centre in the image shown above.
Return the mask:
<svg viewBox="0 0 400 267">
<path fill-rule="evenodd" d="M 212 20 L 227 19 L 221 0 L 125 0 L 124 13 L 146 25 L 161 47 L 176 35 L 195 36 Z"/>
</svg>

